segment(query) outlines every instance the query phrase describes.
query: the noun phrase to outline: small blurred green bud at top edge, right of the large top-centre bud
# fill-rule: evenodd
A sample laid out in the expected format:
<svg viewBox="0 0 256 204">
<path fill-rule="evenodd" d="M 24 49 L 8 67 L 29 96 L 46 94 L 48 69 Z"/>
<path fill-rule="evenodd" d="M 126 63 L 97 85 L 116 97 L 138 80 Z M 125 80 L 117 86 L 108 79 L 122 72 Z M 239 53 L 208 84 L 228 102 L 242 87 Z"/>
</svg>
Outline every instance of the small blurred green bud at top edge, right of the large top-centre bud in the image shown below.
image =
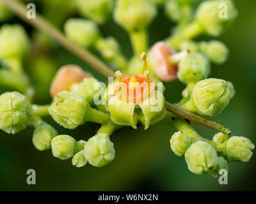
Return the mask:
<svg viewBox="0 0 256 204">
<path fill-rule="evenodd" d="M 164 11 L 170 20 L 178 22 L 182 17 L 182 8 L 176 0 L 168 0 L 164 5 Z"/>
</svg>

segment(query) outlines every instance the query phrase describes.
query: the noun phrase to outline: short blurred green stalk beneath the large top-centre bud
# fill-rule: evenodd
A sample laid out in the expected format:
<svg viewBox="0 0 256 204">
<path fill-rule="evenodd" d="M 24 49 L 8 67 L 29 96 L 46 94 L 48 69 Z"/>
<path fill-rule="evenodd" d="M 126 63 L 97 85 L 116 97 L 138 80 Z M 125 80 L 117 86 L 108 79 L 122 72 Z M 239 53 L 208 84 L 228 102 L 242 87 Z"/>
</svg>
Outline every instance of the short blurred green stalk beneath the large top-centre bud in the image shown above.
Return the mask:
<svg viewBox="0 0 256 204">
<path fill-rule="evenodd" d="M 148 48 L 148 33 L 146 29 L 141 31 L 129 32 L 132 48 L 135 56 L 140 56 L 141 53 L 147 52 Z"/>
</svg>

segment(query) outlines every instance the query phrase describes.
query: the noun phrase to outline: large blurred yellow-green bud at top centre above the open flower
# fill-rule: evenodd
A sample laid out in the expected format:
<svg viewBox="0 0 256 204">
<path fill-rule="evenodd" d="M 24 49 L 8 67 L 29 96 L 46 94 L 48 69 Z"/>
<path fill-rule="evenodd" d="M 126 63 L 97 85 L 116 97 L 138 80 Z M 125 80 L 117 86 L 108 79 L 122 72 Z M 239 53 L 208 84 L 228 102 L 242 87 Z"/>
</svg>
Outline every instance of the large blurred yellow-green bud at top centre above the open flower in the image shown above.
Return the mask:
<svg viewBox="0 0 256 204">
<path fill-rule="evenodd" d="M 151 1 L 118 0 L 114 19 L 128 31 L 138 31 L 147 27 L 156 13 L 156 6 Z"/>
</svg>

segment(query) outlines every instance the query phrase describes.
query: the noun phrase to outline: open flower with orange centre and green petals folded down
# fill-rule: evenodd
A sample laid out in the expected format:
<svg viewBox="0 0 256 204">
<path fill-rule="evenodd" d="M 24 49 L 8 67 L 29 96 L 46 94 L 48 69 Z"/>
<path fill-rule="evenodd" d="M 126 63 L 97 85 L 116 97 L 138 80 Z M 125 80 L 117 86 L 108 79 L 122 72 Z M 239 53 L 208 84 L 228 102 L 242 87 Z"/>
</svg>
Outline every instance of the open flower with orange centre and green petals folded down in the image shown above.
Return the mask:
<svg viewBox="0 0 256 204">
<path fill-rule="evenodd" d="M 158 122 L 165 115 L 164 96 L 155 90 L 154 81 L 148 76 L 147 61 L 145 57 L 143 59 L 144 75 L 117 76 L 114 95 L 108 100 L 111 119 L 116 124 L 136 128 L 140 120 L 147 129 L 150 123 Z"/>
</svg>

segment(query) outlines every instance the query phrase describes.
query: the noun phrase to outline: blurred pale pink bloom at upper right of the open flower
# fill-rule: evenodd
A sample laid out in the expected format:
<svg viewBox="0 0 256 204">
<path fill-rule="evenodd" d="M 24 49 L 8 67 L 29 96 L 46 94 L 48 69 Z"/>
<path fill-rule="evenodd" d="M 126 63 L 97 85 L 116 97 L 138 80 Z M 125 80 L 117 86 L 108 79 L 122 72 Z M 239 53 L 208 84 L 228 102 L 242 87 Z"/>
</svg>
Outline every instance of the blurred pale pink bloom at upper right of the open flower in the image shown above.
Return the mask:
<svg viewBox="0 0 256 204">
<path fill-rule="evenodd" d="M 177 64 L 172 64 L 169 57 L 175 54 L 168 43 L 163 41 L 157 42 L 150 51 L 150 64 L 154 68 L 154 72 L 164 82 L 172 82 L 177 80 Z"/>
</svg>

